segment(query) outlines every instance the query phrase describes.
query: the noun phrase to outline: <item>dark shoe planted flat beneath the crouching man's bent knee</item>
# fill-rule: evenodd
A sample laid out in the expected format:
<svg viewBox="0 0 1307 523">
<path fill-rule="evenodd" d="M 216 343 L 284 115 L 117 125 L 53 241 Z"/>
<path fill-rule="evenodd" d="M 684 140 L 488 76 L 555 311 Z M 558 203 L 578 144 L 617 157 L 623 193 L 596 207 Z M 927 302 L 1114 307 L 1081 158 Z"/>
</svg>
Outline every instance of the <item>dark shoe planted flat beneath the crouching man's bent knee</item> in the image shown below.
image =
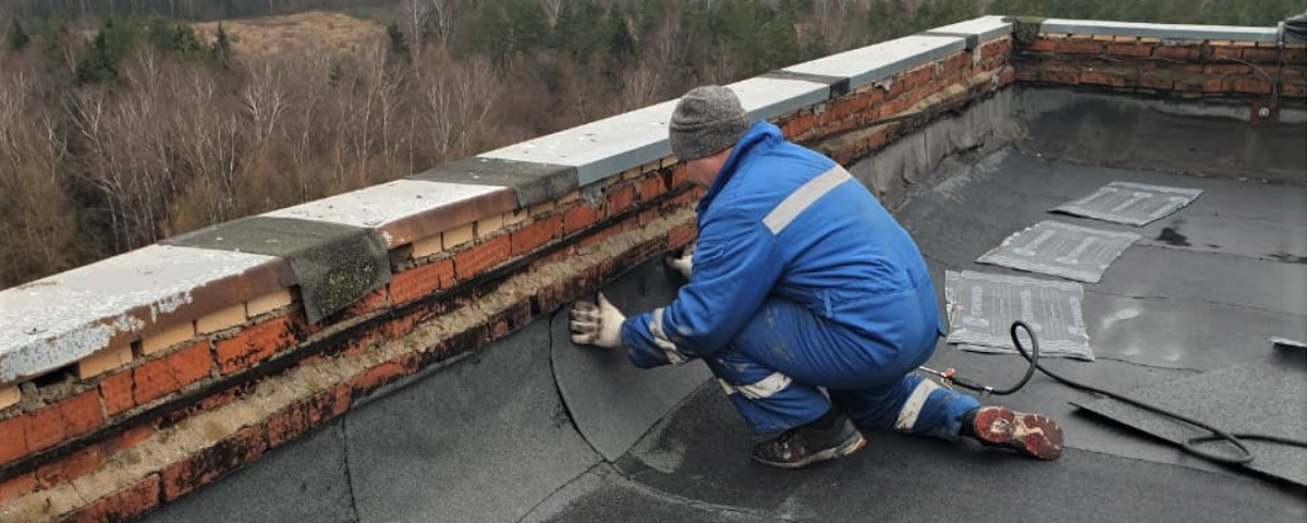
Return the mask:
<svg viewBox="0 0 1307 523">
<path fill-rule="evenodd" d="M 800 468 L 827 459 L 847 456 L 867 446 L 848 417 L 839 414 L 829 429 L 816 424 L 797 426 L 753 447 L 753 459 L 780 468 Z"/>
</svg>

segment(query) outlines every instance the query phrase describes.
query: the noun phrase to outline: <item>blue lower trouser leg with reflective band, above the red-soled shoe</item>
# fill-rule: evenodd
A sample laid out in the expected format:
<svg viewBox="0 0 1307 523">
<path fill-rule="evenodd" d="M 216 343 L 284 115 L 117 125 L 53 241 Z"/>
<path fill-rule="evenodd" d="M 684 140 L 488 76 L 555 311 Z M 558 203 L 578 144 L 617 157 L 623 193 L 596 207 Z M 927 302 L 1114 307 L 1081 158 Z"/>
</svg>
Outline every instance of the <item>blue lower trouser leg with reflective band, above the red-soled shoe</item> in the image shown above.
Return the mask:
<svg viewBox="0 0 1307 523">
<path fill-rule="evenodd" d="M 830 391 L 830 399 L 848 413 L 857 426 L 893 429 L 904 433 L 958 438 L 958 420 L 980 401 L 958 391 L 940 387 L 920 374 L 904 375 L 889 387 L 857 391 Z"/>
</svg>

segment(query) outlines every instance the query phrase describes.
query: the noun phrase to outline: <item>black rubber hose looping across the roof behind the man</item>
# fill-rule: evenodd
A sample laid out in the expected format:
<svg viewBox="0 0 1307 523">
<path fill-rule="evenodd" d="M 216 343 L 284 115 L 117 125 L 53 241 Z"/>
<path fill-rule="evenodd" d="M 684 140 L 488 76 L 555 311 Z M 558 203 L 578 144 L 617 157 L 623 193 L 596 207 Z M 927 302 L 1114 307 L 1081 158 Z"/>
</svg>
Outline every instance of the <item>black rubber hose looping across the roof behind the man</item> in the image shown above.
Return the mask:
<svg viewBox="0 0 1307 523">
<path fill-rule="evenodd" d="M 1022 328 L 1022 329 L 1025 329 L 1026 335 L 1030 336 L 1030 350 L 1029 352 L 1026 350 L 1025 345 L 1021 344 L 1021 339 L 1017 336 L 1017 328 L 1018 327 Z M 1056 379 L 1056 380 L 1059 380 L 1061 383 L 1065 383 L 1065 384 L 1068 384 L 1068 386 L 1070 386 L 1073 388 L 1078 388 L 1078 390 L 1082 390 L 1082 391 L 1087 391 L 1087 392 L 1098 394 L 1098 395 L 1102 395 L 1102 396 L 1107 396 L 1107 397 L 1115 399 L 1117 401 L 1124 401 L 1124 403 L 1128 403 L 1131 405 L 1138 407 L 1141 409 L 1150 411 L 1150 412 L 1154 412 L 1154 413 L 1170 417 L 1172 420 L 1183 421 L 1183 422 L 1189 424 L 1189 425 L 1192 425 L 1195 428 L 1210 431 L 1212 434 L 1208 434 L 1208 435 L 1200 435 L 1200 437 L 1196 437 L 1196 438 L 1189 438 L 1188 441 L 1180 443 L 1180 447 L 1184 448 L 1185 452 L 1193 454 L 1193 455 L 1196 455 L 1199 458 L 1204 458 L 1204 459 L 1208 459 L 1208 460 L 1212 460 L 1212 462 L 1216 462 L 1216 463 L 1225 463 L 1225 464 L 1244 464 L 1244 463 L 1251 463 L 1252 462 L 1252 452 L 1249 452 L 1248 451 L 1248 446 L 1243 443 L 1246 439 L 1266 441 L 1266 442 L 1274 442 L 1274 443 L 1281 443 L 1281 445 L 1291 445 L 1291 446 L 1295 446 L 1295 447 L 1304 447 L 1304 448 L 1307 448 L 1307 442 L 1299 441 L 1299 439 L 1282 438 L 1282 437 L 1278 437 L 1278 435 L 1269 435 L 1269 434 L 1227 433 L 1225 430 L 1217 429 L 1217 428 L 1214 428 L 1214 426 L 1212 426 L 1212 425 L 1209 425 L 1206 422 L 1191 418 L 1188 416 L 1184 416 L 1184 414 L 1180 414 L 1180 413 L 1176 413 L 1176 412 L 1171 412 L 1171 411 L 1163 409 L 1161 407 L 1149 405 L 1149 404 L 1146 404 L 1144 401 L 1132 399 L 1132 397 L 1121 395 L 1121 394 L 1106 391 L 1106 390 L 1102 390 L 1102 388 L 1098 388 L 1098 387 L 1093 387 L 1093 386 L 1089 386 L 1089 384 L 1085 384 L 1085 383 L 1076 382 L 1073 379 L 1068 379 L 1068 378 L 1060 377 L 1060 375 L 1050 371 L 1048 369 L 1044 369 L 1043 365 L 1039 365 L 1039 340 L 1035 337 L 1034 331 L 1030 329 L 1030 326 L 1027 326 L 1025 322 L 1017 320 L 1017 322 L 1012 323 L 1010 332 L 1012 332 L 1012 343 L 1017 345 L 1017 352 L 1019 352 L 1021 356 L 1023 358 L 1026 358 L 1026 361 L 1030 362 L 1030 367 L 1026 370 L 1026 377 L 1022 378 L 1021 382 L 1018 382 L 1014 387 L 1010 387 L 1010 388 L 1004 390 L 1001 392 L 1000 391 L 995 391 L 993 394 L 996 394 L 996 395 L 997 394 L 1012 394 L 1012 392 L 1016 392 L 1017 390 L 1021 390 L 1021 387 L 1023 387 L 1026 384 L 1026 382 L 1030 380 L 1030 375 L 1034 374 L 1035 369 L 1039 369 L 1042 373 L 1047 374 L 1050 378 Z M 1240 455 L 1231 458 L 1231 456 L 1222 455 L 1222 454 L 1214 454 L 1214 452 L 1210 452 L 1210 451 L 1206 451 L 1206 450 L 1202 450 L 1202 448 L 1199 447 L 1199 445 L 1210 443 L 1210 442 L 1216 442 L 1216 441 L 1223 441 L 1223 442 L 1230 443 L 1230 446 L 1233 446 L 1233 447 L 1235 447 L 1235 448 L 1239 450 Z"/>
</svg>

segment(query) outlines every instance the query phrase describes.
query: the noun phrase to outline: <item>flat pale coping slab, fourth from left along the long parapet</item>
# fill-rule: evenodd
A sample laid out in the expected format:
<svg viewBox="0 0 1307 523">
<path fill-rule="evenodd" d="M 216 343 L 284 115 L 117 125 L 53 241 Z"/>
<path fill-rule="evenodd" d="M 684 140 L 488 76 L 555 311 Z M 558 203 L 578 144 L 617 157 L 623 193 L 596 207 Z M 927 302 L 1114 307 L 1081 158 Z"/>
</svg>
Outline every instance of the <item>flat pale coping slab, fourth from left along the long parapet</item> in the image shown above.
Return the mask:
<svg viewBox="0 0 1307 523">
<path fill-rule="evenodd" d="M 848 89 L 853 90 L 966 47 L 966 38 L 911 35 L 805 61 L 784 71 L 847 77 Z"/>
</svg>

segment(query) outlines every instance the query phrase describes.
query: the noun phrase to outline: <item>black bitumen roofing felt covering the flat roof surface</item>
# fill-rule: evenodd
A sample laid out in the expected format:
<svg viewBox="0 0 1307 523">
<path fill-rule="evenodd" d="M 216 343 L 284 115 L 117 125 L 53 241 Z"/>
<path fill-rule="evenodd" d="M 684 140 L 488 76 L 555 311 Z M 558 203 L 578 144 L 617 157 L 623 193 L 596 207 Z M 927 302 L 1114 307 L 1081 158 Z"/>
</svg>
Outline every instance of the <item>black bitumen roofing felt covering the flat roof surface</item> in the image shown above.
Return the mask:
<svg viewBox="0 0 1307 523">
<path fill-rule="evenodd" d="M 1302 124 L 1289 128 L 1293 136 L 1303 135 Z M 1204 127 L 1180 126 L 1174 132 L 1202 133 Z M 1304 154 L 1300 141 L 1280 143 L 1285 145 L 1274 146 L 1276 154 Z M 1100 282 L 1085 285 L 1084 316 L 1098 360 L 1046 363 L 1099 387 L 1157 387 L 1266 361 L 1273 350 L 1283 350 L 1272 348 L 1273 336 L 1307 340 L 1307 187 L 1302 182 L 1263 183 L 1257 173 L 1244 179 L 1168 174 L 1132 167 L 1128 158 L 1111 165 L 1070 163 L 1002 148 L 945 183 L 916 187 L 894 212 L 927 256 L 941 305 L 945 269 L 1018 275 L 972 260 L 1042 220 L 1141 234 L 1144 239 Z M 1204 194 L 1142 228 L 1047 212 L 1114 180 L 1201 188 Z M 664 305 L 677 284 L 659 260 L 651 260 L 606 290 L 616 305 L 634 312 Z M 779 471 L 748 459 L 757 439 L 707 379 L 702 363 L 643 375 L 621 358 L 576 350 L 588 349 L 567 340 L 565 312 L 541 318 L 474 354 L 387 388 L 328 426 L 144 520 L 1307 518 L 1302 485 L 1216 465 L 1087 414 L 1070 403 L 1093 403 L 1095 396 L 1040 375 L 1013 396 L 984 401 L 1057 418 L 1067 433 L 1060 460 L 1035 462 L 970 442 L 874 431 L 868 434 L 868 447 L 852 456 Z M 1298 365 L 1290 369 L 1297 371 L 1298 386 L 1307 382 L 1300 362 L 1285 363 Z M 1014 356 L 966 353 L 942 341 L 928 365 L 957 367 L 996 386 L 1023 371 Z M 1298 422 L 1307 418 L 1307 397 L 1276 399 L 1253 391 L 1236 384 L 1206 391 L 1223 397 L 1216 404 L 1225 407 L 1188 414 L 1219 424 L 1238 411 L 1231 405 L 1274 401 L 1281 416 Z"/>
</svg>

